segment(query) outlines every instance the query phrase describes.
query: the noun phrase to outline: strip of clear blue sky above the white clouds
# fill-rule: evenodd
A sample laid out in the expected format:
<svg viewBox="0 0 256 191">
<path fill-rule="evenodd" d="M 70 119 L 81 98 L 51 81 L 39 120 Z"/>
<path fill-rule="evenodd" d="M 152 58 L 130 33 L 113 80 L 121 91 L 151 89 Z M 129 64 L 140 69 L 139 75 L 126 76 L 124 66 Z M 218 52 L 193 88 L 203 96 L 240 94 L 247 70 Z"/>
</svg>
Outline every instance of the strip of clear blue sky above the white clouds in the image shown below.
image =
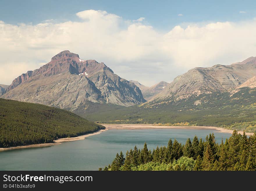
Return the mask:
<svg viewBox="0 0 256 191">
<path fill-rule="evenodd" d="M 0 20 L 6 23 L 33 23 L 43 20 L 78 20 L 83 10 L 105 10 L 123 19 L 145 17 L 159 30 L 187 22 L 241 21 L 256 17 L 256 1 L 85 1 L 85 0 L 1 0 Z M 246 13 L 239 13 L 244 11 Z M 178 16 L 182 14 L 183 16 Z"/>
</svg>

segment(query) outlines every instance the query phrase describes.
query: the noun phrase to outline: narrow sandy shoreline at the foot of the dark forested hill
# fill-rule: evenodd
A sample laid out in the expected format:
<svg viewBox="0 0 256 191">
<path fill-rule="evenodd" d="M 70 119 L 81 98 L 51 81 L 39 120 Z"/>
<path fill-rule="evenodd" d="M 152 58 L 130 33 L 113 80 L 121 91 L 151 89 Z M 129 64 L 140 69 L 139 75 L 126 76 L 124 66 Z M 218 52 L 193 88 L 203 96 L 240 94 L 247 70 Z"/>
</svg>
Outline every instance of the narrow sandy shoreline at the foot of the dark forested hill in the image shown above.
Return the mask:
<svg viewBox="0 0 256 191">
<path fill-rule="evenodd" d="M 51 143 L 40 143 L 40 144 L 28 144 L 28 145 L 22 145 L 22 146 L 15 146 L 15 147 L 6 147 L 6 148 L 0 148 L 1 151 L 7 151 L 7 150 L 12 150 L 12 149 L 26 149 L 26 148 L 35 148 L 35 147 L 49 147 L 57 144 L 61 144 L 62 142 L 69 142 L 69 141 L 78 141 L 78 140 L 83 140 L 86 137 L 92 136 L 92 135 L 97 135 L 103 131 L 107 131 L 109 129 L 100 129 L 94 133 L 87 133 L 84 135 L 79 135 L 77 137 L 70 137 L 70 138 L 60 138 L 54 140 L 54 142 Z"/>
</svg>

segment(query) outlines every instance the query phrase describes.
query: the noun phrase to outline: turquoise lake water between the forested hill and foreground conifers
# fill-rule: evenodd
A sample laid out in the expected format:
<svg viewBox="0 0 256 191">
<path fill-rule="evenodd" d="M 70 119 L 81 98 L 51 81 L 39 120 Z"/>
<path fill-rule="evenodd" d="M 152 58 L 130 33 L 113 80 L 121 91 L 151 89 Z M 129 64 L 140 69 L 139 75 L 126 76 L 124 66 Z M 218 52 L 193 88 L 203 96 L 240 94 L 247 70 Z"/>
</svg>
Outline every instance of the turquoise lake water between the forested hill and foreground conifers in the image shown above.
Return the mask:
<svg viewBox="0 0 256 191">
<path fill-rule="evenodd" d="M 205 139 L 211 129 L 110 129 L 84 140 L 63 142 L 58 145 L 41 148 L 15 149 L 0 152 L 0 170 L 98 170 L 112 163 L 116 153 L 136 145 L 148 149 L 157 145 L 166 146 L 169 139 L 175 138 L 185 144 L 187 138 L 195 135 Z M 231 136 L 230 133 L 214 132 L 216 142 L 221 143 Z"/>
</svg>

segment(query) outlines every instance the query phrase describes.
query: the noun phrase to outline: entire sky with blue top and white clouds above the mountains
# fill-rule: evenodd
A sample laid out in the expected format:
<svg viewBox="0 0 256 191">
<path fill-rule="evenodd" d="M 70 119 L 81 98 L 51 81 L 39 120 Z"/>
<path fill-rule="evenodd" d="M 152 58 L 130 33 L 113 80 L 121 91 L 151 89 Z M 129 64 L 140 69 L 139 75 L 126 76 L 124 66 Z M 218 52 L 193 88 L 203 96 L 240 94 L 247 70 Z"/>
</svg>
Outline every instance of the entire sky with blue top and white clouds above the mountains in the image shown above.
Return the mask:
<svg viewBox="0 0 256 191">
<path fill-rule="evenodd" d="M 256 1 L 0 0 L 0 84 L 63 50 L 151 86 L 256 56 Z"/>
</svg>

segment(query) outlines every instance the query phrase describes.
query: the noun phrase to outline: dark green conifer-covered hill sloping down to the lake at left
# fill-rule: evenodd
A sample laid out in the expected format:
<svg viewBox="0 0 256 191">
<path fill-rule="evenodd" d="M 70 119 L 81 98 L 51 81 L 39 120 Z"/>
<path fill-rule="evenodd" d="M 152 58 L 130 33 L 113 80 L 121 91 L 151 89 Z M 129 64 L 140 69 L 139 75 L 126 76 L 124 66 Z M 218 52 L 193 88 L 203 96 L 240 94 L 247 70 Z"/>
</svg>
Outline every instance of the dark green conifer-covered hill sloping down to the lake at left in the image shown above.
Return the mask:
<svg viewBox="0 0 256 191">
<path fill-rule="evenodd" d="M 49 143 L 104 128 L 66 110 L 0 98 L 0 147 Z"/>
</svg>

